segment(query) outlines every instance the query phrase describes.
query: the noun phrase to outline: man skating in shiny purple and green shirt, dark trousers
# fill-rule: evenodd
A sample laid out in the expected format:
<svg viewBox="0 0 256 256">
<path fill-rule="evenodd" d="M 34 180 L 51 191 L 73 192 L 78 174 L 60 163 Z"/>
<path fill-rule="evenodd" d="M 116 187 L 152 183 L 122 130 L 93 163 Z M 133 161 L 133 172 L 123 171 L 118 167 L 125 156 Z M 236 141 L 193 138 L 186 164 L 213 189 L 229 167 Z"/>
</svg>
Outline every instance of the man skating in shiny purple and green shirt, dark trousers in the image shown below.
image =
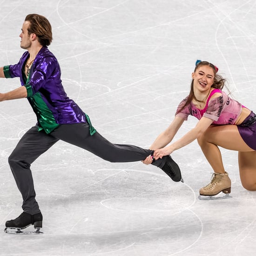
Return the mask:
<svg viewBox="0 0 256 256">
<path fill-rule="evenodd" d="M 153 150 L 107 141 L 92 126 L 88 115 L 67 97 L 61 84 L 61 69 L 47 46 L 52 28 L 41 15 L 29 14 L 20 34 L 20 47 L 27 50 L 15 65 L 0 67 L 0 77 L 20 77 L 21 87 L 0 94 L 0 101 L 27 98 L 37 117 L 36 126 L 20 139 L 8 162 L 23 198 L 23 213 L 6 222 L 9 229 L 42 227 L 42 214 L 35 200 L 30 165 L 59 140 L 84 148 L 110 162 L 135 162 L 153 158 Z M 175 182 L 182 181 L 178 165 L 168 155 L 153 164 Z M 11 232 L 11 231 L 10 231 Z"/>
</svg>

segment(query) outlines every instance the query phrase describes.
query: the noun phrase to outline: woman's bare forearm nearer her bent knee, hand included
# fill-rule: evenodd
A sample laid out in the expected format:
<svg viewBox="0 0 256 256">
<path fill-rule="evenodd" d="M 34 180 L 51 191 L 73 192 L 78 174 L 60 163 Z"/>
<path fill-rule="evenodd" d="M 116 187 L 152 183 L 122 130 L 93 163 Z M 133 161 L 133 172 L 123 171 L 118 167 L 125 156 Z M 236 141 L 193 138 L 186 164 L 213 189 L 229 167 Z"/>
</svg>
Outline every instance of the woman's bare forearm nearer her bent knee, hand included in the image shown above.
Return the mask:
<svg viewBox="0 0 256 256">
<path fill-rule="evenodd" d="M 191 129 L 188 133 L 182 136 L 181 139 L 170 144 L 168 147 L 155 150 L 155 159 L 162 158 L 164 155 L 169 155 L 173 151 L 188 145 L 196 138 L 201 136 L 206 131 L 206 129 L 209 128 L 212 122 L 213 120 L 207 117 L 202 117 L 200 121 L 198 121 L 198 123 L 196 124 L 195 128 Z"/>
</svg>

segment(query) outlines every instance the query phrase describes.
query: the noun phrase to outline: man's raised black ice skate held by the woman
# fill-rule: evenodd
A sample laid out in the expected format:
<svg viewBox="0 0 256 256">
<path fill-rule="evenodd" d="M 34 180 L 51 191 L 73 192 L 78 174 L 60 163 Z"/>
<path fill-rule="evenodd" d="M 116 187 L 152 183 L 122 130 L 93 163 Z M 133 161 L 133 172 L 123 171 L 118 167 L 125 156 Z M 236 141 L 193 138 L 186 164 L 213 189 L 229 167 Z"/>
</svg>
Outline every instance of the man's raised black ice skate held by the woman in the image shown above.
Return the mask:
<svg viewBox="0 0 256 256">
<path fill-rule="evenodd" d="M 179 166 L 170 155 L 165 155 L 157 160 L 153 160 L 153 165 L 161 168 L 174 182 L 184 182 Z"/>
</svg>

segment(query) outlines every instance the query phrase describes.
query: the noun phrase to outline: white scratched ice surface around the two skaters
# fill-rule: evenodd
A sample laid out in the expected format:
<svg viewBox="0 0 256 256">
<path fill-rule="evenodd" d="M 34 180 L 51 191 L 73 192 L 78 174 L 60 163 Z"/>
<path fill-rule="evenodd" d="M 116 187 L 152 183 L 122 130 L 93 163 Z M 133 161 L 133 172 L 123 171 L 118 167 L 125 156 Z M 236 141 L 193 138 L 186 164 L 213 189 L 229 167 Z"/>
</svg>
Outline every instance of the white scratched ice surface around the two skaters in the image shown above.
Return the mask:
<svg viewBox="0 0 256 256">
<path fill-rule="evenodd" d="M 219 67 L 233 96 L 256 111 L 255 0 L 0 0 L 0 66 L 24 52 L 28 13 L 50 20 L 67 94 L 112 142 L 148 148 L 188 94 L 197 59 Z M 0 91 L 18 86 L 2 79 Z M 237 152 L 222 149 L 233 198 L 199 201 L 212 170 L 196 142 L 172 155 L 184 184 L 58 142 L 32 165 L 44 234 L 4 233 L 22 211 L 7 158 L 35 122 L 26 99 L 0 103 L 0 256 L 256 254 L 256 192 L 241 185 Z"/>
</svg>

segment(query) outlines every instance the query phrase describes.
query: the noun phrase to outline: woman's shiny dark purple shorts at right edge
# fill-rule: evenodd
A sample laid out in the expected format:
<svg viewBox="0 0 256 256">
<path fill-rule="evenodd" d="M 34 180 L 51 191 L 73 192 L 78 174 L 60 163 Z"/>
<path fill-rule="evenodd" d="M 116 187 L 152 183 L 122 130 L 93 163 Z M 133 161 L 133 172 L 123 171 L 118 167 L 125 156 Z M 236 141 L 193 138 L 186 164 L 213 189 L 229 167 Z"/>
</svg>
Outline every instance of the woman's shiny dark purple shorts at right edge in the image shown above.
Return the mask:
<svg viewBox="0 0 256 256">
<path fill-rule="evenodd" d="M 251 111 L 250 115 L 237 128 L 244 142 L 256 150 L 256 115 Z"/>
</svg>

